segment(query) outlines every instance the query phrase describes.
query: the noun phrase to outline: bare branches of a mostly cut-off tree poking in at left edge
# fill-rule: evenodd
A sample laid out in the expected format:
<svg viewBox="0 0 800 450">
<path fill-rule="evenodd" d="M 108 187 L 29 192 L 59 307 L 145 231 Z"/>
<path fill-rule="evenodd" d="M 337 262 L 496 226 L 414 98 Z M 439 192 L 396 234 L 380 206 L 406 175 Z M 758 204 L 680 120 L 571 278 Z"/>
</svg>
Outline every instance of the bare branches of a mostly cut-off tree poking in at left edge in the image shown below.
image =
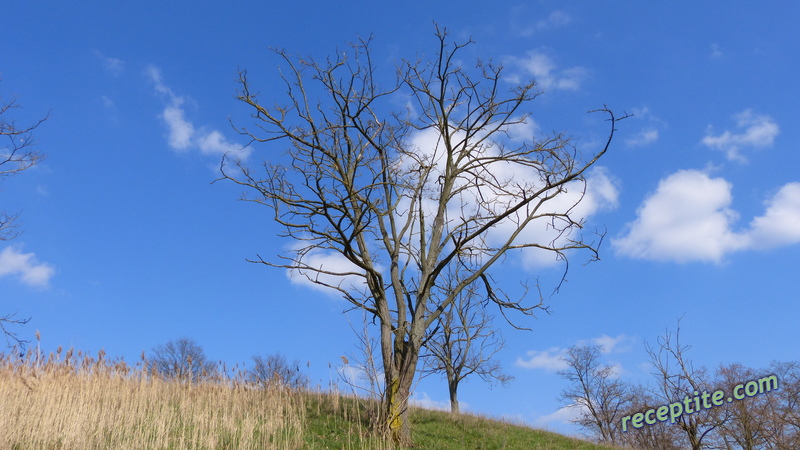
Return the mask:
<svg viewBox="0 0 800 450">
<path fill-rule="evenodd" d="M 0 181 L 27 170 L 44 159 L 44 155 L 36 151 L 36 141 L 33 138 L 33 131 L 47 120 L 45 116 L 32 125 L 17 125 L 16 120 L 10 117 L 11 113 L 21 108 L 14 99 L 6 102 L 0 97 L 0 141 L 6 138 L 7 141 L 0 142 Z M 8 241 L 19 235 L 16 223 L 19 214 L 0 211 L 0 242 Z M 16 313 L 4 314 L 0 316 L 0 332 L 6 338 L 6 345 L 11 346 L 12 342 L 24 344 L 17 337 L 17 334 L 10 330 L 9 326 L 24 325 L 30 319 L 19 318 Z"/>
</svg>

